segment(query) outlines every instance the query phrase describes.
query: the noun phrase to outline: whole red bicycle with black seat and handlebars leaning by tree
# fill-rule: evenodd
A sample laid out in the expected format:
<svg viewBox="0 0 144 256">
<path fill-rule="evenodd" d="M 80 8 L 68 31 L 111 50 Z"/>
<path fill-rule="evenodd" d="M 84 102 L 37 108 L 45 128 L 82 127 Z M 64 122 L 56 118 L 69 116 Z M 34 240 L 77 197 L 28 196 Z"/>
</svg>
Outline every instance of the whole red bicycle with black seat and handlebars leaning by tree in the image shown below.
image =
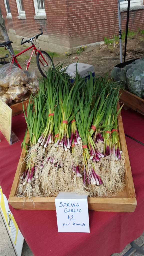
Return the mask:
<svg viewBox="0 0 144 256">
<path fill-rule="evenodd" d="M 19 55 L 23 54 L 24 52 L 28 51 L 29 49 L 32 49 L 32 48 L 33 48 L 32 53 L 31 53 L 31 55 L 30 55 L 30 58 L 24 62 L 24 64 L 27 66 L 27 67 L 26 67 L 26 71 L 28 70 L 28 67 L 29 67 L 29 65 L 30 65 L 30 61 L 31 61 L 32 56 L 33 56 L 33 53 L 34 53 L 34 51 L 35 51 L 35 54 L 36 54 L 36 63 L 37 63 L 37 67 L 38 67 L 38 69 L 39 69 L 39 72 L 42 74 L 43 77 L 46 77 L 45 72 L 48 70 L 49 66 L 52 66 L 52 65 L 53 65 L 53 63 L 52 63 L 51 57 L 48 55 L 48 53 L 47 53 L 46 51 L 40 50 L 40 47 L 39 47 L 39 49 L 37 49 L 36 46 L 34 45 L 34 41 L 36 41 L 36 40 L 34 40 L 34 39 L 35 39 L 35 38 L 37 39 L 39 36 L 43 35 L 42 29 L 40 28 L 39 30 L 41 31 L 40 34 L 35 35 L 35 36 L 29 38 L 28 40 L 26 40 L 26 41 L 24 41 L 24 42 L 23 42 L 24 38 L 22 38 L 21 45 L 30 42 L 30 43 L 32 44 L 32 46 L 28 47 L 27 49 L 23 50 L 22 52 L 20 52 L 20 53 L 18 53 L 18 54 L 16 54 L 16 55 L 12 55 L 12 52 L 11 52 L 11 50 L 10 50 L 9 47 L 8 47 L 8 44 L 12 44 L 12 41 L 7 41 L 7 42 L 2 42 L 2 43 L 0 43 L 0 47 L 5 47 L 5 49 L 6 49 L 6 50 L 8 49 L 9 52 L 10 52 L 10 54 L 11 54 L 11 62 L 5 61 L 5 59 L 4 59 L 4 61 L 0 61 L 0 66 L 3 66 L 3 65 L 5 65 L 5 64 L 7 64 L 7 63 L 12 63 L 12 64 L 14 63 L 14 64 L 16 64 L 20 69 L 22 69 L 22 68 L 20 67 L 18 61 L 17 61 L 17 57 L 18 57 Z M 54 65 L 53 65 L 53 67 L 54 67 Z"/>
</svg>

